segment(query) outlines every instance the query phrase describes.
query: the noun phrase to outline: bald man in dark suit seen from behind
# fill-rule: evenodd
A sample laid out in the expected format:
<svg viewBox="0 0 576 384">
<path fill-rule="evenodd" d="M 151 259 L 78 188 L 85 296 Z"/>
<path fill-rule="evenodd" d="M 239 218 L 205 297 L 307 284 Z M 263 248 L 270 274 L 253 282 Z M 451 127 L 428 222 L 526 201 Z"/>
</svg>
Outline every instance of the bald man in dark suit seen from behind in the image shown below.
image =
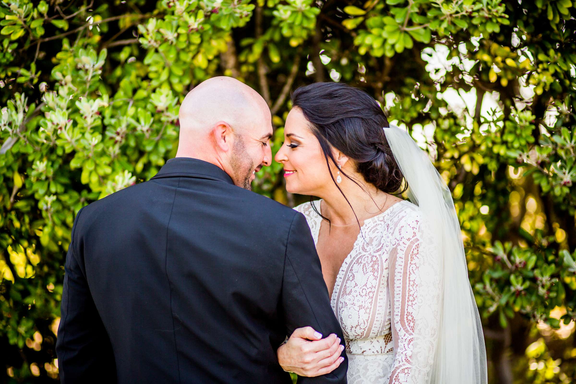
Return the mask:
<svg viewBox="0 0 576 384">
<path fill-rule="evenodd" d="M 291 383 L 276 360 L 286 335 L 343 340 L 304 216 L 249 191 L 271 136 L 259 94 L 209 79 L 180 107 L 176 158 L 78 212 L 62 383 Z M 346 383 L 346 370 L 299 382 Z"/>
</svg>

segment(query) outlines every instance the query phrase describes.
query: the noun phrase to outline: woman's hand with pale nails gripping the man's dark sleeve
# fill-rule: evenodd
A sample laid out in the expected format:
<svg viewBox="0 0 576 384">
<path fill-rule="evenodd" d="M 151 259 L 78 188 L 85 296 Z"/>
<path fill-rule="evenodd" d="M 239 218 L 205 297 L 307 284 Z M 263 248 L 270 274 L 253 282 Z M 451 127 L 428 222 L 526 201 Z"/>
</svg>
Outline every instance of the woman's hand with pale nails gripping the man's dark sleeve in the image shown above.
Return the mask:
<svg viewBox="0 0 576 384">
<path fill-rule="evenodd" d="M 285 371 L 299 376 L 315 377 L 334 371 L 344 358 L 340 357 L 344 345 L 334 333 L 322 339 L 312 327 L 295 329 L 290 339 L 282 344 L 276 354 Z"/>
</svg>

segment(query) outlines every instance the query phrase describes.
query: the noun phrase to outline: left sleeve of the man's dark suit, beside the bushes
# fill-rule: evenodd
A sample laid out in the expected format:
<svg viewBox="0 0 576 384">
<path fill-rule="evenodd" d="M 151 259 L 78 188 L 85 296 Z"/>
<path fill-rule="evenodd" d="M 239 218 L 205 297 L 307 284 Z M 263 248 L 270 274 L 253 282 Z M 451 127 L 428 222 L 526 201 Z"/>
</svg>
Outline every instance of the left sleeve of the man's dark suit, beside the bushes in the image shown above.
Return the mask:
<svg viewBox="0 0 576 384">
<path fill-rule="evenodd" d="M 82 208 L 84 209 L 84 208 Z M 108 334 L 90 295 L 84 263 L 75 253 L 75 232 L 82 209 L 74 219 L 68 253 L 66 254 L 60 325 L 56 355 L 60 382 L 90 382 L 96 377 L 115 381 L 116 369 Z"/>
</svg>

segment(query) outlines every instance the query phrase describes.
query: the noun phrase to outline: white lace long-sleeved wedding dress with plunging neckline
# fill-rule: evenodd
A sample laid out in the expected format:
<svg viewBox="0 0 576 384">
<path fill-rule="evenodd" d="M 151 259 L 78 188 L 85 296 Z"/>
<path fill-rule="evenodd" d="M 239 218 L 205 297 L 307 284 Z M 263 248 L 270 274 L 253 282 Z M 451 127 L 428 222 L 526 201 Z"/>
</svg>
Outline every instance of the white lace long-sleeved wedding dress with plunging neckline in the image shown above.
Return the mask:
<svg viewBox="0 0 576 384">
<path fill-rule="evenodd" d="M 320 200 L 314 204 L 320 212 Z M 306 216 L 317 244 L 322 218 L 310 203 L 294 209 Z M 419 208 L 399 201 L 365 220 L 344 259 L 331 303 L 346 340 L 348 384 L 428 381 L 441 269 L 427 233 Z"/>
</svg>

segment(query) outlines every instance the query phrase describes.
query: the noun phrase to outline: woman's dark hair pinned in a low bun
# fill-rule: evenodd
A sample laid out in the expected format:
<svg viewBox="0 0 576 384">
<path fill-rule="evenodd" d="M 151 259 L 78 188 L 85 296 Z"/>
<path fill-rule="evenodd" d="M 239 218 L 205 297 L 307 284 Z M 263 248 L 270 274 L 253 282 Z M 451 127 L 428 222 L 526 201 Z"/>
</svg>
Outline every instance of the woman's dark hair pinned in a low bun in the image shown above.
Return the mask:
<svg viewBox="0 0 576 384">
<path fill-rule="evenodd" d="M 336 164 L 331 150 L 334 147 L 354 161 L 356 171 L 367 183 L 386 193 L 400 189 L 403 175 L 382 129 L 389 127 L 388 119 L 374 98 L 344 83 L 321 82 L 296 89 L 291 100 L 293 107 L 298 107 L 308 120 L 328 165 L 328 159 Z M 334 180 L 332 171 L 330 174 Z M 334 183 L 338 187 L 335 180 Z"/>
</svg>

